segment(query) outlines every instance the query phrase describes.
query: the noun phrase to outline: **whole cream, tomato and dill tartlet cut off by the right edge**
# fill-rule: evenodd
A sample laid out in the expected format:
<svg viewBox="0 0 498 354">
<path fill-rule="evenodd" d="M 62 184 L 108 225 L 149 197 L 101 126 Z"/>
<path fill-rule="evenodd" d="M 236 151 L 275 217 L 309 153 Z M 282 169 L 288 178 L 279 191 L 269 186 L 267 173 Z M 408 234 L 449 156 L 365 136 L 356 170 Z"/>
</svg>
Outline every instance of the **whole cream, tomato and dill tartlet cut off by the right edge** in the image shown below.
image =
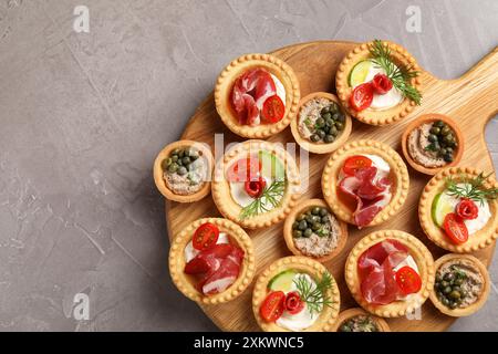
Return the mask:
<svg viewBox="0 0 498 354">
<path fill-rule="evenodd" d="M 469 167 L 450 167 L 424 188 L 418 217 L 427 237 L 456 253 L 490 246 L 498 237 L 498 183 Z"/>
</svg>

